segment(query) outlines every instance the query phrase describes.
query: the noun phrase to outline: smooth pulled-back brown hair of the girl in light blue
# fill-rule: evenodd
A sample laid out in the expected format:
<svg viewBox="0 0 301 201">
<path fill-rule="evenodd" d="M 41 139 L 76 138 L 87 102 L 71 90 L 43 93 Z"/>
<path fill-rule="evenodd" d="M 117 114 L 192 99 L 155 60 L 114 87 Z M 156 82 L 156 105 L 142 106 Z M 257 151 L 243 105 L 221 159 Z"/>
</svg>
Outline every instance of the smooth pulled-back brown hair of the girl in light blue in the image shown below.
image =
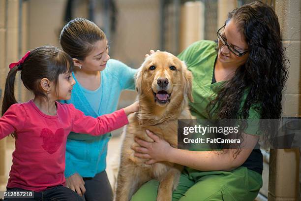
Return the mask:
<svg viewBox="0 0 301 201">
<path fill-rule="evenodd" d="M 84 61 L 93 50 L 94 44 L 106 39 L 103 31 L 85 18 L 68 22 L 60 33 L 60 45 L 72 58 Z"/>
</svg>

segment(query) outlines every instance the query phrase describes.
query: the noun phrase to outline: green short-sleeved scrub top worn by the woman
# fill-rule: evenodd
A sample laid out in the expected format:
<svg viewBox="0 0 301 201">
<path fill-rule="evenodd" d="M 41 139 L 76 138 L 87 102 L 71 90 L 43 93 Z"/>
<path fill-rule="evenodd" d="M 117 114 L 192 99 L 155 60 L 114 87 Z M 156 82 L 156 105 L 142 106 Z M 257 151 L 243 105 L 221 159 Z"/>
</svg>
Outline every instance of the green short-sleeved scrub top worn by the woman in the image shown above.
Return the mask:
<svg viewBox="0 0 301 201">
<path fill-rule="evenodd" d="M 190 112 L 198 119 L 209 119 L 207 105 L 216 98 L 218 91 L 226 81 L 212 84 L 213 70 L 217 58 L 217 43 L 211 40 L 201 40 L 193 43 L 178 56 L 185 62 L 188 70 L 193 75 L 192 96 L 194 102 L 189 102 Z M 241 101 L 241 107 L 247 97 L 248 90 L 245 90 Z M 244 130 L 246 134 L 260 135 L 259 120 L 260 114 L 256 109 L 258 105 L 251 106 L 248 126 Z M 213 116 L 214 117 L 214 116 Z"/>
</svg>

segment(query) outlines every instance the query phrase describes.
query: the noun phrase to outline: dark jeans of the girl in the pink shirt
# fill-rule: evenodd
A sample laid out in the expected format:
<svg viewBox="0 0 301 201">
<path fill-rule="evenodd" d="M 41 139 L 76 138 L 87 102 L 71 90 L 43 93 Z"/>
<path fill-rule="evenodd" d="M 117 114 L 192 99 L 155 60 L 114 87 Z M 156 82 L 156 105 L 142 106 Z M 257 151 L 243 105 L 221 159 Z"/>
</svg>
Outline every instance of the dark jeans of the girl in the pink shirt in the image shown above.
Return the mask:
<svg viewBox="0 0 301 201">
<path fill-rule="evenodd" d="M 7 191 L 25 191 L 20 188 L 7 188 Z M 82 198 L 77 195 L 71 189 L 64 186 L 56 186 L 46 189 L 41 192 L 34 192 L 34 198 L 22 198 L 22 199 L 9 199 L 4 198 L 3 201 L 83 201 Z"/>
</svg>

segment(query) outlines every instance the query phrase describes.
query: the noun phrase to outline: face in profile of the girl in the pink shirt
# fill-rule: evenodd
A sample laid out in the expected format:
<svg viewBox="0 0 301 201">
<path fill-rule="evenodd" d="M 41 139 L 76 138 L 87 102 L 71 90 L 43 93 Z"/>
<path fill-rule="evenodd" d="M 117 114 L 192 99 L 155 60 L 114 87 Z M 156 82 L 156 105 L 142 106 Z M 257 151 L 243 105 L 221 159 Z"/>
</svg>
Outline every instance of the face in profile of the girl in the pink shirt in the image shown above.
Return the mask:
<svg viewBox="0 0 301 201">
<path fill-rule="evenodd" d="M 62 73 L 59 75 L 59 82 L 57 86 L 57 91 L 54 90 L 54 93 L 51 93 L 54 96 L 58 96 L 56 100 L 69 100 L 71 98 L 71 90 L 75 80 L 73 79 L 71 72 Z"/>
</svg>

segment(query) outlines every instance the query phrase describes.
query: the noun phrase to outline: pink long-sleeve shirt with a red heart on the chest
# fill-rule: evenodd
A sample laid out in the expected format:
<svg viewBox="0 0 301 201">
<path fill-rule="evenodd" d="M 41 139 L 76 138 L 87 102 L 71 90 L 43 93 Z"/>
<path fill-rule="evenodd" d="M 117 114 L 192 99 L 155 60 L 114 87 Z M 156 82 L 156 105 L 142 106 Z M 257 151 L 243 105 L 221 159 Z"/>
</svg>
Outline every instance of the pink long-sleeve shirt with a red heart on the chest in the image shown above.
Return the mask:
<svg viewBox="0 0 301 201">
<path fill-rule="evenodd" d="M 11 105 L 0 118 L 0 138 L 17 134 L 8 188 L 40 192 L 64 185 L 66 140 L 71 131 L 101 135 L 128 123 L 123 109 L 93 118 L 72 104 L 56 104 L 55 116 L 42 113 L 30 100 Z"/>
</svg>

